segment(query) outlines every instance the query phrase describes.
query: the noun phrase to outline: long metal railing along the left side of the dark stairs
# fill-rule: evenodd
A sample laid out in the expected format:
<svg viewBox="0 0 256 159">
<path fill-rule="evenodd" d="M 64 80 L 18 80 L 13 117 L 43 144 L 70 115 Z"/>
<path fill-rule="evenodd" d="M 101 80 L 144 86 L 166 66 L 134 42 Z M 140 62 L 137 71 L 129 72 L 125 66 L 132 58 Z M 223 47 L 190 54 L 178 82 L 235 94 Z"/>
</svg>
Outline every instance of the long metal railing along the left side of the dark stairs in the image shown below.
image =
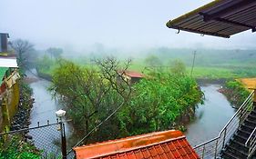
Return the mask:
<svg viewBox="0 0 256 159">
<path fill-rule="evenodd" d="M 221 150 L 230 141 L 232 135 L 237 131 L 247 115 L 251 113 L 253 108 L 253 95 L 254 92 L 247 97 L 237 112 L 230 118 L 230 121 L 222 128 L 217 137 L 193 147 L 197 154 L 200 155 L 200 158 L 217 158 L 218 155 L 220 155 Z"/>
</svg>

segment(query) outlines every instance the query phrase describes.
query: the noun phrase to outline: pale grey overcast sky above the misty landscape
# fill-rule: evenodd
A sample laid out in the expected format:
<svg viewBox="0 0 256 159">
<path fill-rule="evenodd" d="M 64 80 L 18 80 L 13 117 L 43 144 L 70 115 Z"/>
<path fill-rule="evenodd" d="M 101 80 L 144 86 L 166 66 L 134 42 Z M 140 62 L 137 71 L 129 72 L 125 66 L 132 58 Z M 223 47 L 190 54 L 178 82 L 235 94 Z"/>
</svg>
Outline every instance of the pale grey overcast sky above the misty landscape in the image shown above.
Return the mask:
<svg viewBox="0 0 256 159">
<path fill-rule="evenodd" d="M 37 48 L 256 48 L 251 31 L 230 39 L 169 29 L 166 23 L 210 0 L 0 0 L 0 32 Z"/>
</svg>

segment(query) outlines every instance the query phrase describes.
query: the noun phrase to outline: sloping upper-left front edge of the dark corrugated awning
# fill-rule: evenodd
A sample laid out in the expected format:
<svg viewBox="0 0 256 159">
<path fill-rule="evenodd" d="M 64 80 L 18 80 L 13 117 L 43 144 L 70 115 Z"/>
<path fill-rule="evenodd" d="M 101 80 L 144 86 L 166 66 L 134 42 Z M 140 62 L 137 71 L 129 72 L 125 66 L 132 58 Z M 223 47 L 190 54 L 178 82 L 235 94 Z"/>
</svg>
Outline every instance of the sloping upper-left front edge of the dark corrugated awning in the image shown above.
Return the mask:
<svg viewBox="0 0 256 159">
<path fill-rule="evenodd" d="M 210 2 L 210 3 L 207 4 L 207 5 L 202 5 L 202 6 L 200 6 L 199 8 L 190 11 L 188 14 L 180 15 L 179 17 L 177 17 L 177 18 L 175 18 L 175 19 L 173 19 L 173 20 L 169 20 L 169 22 L 168 22 L 166 25 L 167 25 L 167 27 L 172 28 L 172 27 L 173 27 L 173 24 L 176 24 L 176 23 L 181 22 L 182 20 L 186 19 L 186 18 L 187 18 L 188 16 L 190 16 L 190 15 L 196 15 L 196 14 L 200 13 L 200 11 L 202 11 L 202 10 L 209 9 L 210 7 L 212 7 L 213 5 L 216 5 L 216 4 L 220 3 L 221 1 L 222 1 L 222 0 L 215 0 L 215 1 Z"/>
</svg>

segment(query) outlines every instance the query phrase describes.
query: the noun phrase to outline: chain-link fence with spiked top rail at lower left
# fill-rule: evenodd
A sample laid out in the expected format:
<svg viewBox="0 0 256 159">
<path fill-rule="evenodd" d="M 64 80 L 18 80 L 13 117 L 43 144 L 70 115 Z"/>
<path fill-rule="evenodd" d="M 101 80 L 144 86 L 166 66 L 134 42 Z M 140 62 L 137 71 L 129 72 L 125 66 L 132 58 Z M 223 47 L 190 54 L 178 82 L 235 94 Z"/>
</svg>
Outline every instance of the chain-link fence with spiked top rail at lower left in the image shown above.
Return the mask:
<svg viewBox="0 0 256 159">
<path fill-rule="evenodd" d="M 62 130 L 65 131 L 65 124 L 62 123 L 62 125 L 64 126 L 63 129 L 61 123 L 49 124 L 47 122 L 45 125 L 38 123 L 36 127 L 1 133 L 0 141 L 2 143 L 4 141 L 5 144 L 8 138 L 13 139 L 19 137 L 19 143 L 22 141 L 36 147 L 36 151 L 39 152 L 41 158 L 62 158 L 61 141 L 63 137 L 66 140 L 65 133 L 64 135 L 62 134 Z M 74 153 L 68 154 L 67 156 L 68 159 L 74 157 Z"/>
</svg>

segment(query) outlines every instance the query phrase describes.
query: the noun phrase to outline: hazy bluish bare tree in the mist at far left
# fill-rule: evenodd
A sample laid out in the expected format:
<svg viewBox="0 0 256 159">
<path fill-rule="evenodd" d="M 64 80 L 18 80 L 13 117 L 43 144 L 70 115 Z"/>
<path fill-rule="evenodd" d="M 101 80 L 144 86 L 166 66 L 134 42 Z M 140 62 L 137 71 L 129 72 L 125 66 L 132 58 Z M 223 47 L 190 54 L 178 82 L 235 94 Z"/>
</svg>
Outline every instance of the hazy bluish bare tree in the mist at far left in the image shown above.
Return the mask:
<svg viewBox="0 0 256 159">
<path fill-rule="evenodd" d="M 15 50 L 17 55 L 17 62 L 20 67 L 26 67 L 31 65 L 35 60 L 35 49 L 27 40 L 17 39 L 10 43 L 11 47 Z"/>
</svg>

